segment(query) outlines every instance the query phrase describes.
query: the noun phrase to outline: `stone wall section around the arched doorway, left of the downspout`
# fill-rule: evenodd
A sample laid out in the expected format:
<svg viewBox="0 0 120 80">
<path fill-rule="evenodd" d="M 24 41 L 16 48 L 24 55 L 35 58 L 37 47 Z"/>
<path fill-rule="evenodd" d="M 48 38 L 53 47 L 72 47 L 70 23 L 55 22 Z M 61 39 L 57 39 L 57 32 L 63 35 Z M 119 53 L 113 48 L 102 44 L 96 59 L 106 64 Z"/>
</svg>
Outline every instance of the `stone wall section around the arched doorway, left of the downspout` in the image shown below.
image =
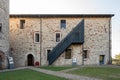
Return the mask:
<svg viewBox="0 0 120 80">
<path fill-rule="evenodd" d="M 20 20 L 25 20 L 24 29 L 20 29 Z M 27 56 L 34 56 L 34 63 L 40 62 L 40 43 L 34 43 L 34 33 L 40 33 L 40 19 L 11 18 L 10 48 L 15 66 L 27 66 Z"/>
</svg>

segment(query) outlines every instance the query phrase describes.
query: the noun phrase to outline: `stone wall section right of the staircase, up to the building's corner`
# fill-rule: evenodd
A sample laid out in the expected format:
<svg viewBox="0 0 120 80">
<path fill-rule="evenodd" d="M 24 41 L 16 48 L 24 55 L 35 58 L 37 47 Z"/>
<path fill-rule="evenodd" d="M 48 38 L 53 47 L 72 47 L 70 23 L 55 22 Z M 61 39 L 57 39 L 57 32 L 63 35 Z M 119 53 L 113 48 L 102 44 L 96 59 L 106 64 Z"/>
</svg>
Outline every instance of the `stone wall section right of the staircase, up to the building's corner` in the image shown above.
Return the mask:
<svg viewBox="0 0 120 80">
<path fill-rule="evenodd" d="M 89 58 L 85 64 L 99 64 L 99 56 L 105 55 L 104 64 L 109 61 L 110 18 L 85 19 L 84 49 L 88 49 Z"/>
</svg>

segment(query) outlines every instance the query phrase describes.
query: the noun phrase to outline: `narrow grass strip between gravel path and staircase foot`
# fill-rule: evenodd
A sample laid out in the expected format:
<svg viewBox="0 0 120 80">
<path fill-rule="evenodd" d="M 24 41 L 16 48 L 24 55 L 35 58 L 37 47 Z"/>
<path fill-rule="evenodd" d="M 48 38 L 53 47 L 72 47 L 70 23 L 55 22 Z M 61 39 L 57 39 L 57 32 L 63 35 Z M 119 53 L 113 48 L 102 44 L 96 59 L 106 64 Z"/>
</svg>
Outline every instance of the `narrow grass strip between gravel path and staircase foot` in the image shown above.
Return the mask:
<svg viewBox="0 0 120 80">
<path fill-rule="evenodd" d="M 51 71 L 61 71 L 61 70 L 66 70 L 66 69 L 71 69 L 73 68 L 72 66 L 43 66 L 40 67 L 42 69 L 47 69 L 47 70 L 51 70 Z"/>
</svg>

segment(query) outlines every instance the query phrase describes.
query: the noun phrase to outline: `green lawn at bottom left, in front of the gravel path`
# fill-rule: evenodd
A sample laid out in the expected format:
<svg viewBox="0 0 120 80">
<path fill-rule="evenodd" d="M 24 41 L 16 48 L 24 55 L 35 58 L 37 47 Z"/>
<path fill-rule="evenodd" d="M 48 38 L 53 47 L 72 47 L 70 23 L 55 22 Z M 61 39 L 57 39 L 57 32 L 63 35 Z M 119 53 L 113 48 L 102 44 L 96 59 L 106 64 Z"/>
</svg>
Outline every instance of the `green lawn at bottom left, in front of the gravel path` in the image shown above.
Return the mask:
<svg viewBox="0 0 120 80">
<path fill-rule="evenodd" d="M 30 69 L 0 72 L 0 80 L 67 80 Z"/>
</svg>

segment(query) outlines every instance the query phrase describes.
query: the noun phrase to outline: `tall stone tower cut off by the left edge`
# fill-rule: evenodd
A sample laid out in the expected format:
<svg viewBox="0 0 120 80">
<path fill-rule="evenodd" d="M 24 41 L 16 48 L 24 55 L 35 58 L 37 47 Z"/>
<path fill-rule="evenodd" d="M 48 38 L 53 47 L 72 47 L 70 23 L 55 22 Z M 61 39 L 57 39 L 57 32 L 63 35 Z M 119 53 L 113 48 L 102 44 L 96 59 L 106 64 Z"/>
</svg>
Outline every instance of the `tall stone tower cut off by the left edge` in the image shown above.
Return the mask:
<svg viewBox="0 0 120 80">
<path fill-rule="evenodd" d="M 0 0 L 0 69 L 8 67 L 9 0 Z"/>
</svg>

